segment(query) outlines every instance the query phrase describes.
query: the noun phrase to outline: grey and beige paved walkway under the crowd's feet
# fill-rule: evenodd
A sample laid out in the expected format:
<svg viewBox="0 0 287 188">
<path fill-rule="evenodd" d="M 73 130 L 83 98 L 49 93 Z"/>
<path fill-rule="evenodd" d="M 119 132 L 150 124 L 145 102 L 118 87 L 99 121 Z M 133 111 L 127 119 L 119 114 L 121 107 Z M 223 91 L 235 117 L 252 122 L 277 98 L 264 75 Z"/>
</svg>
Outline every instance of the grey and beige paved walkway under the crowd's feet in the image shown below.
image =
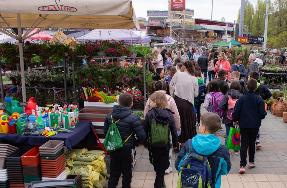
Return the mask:
<svg viewBox="0 0 287 188">
<path fill-rule="evenodd" d="M 201 109 L 201 114 L 205 113 Z M 225 125 L 219 132 L 219 138 L 224 143 Z M 199 131 L 198 131 L 199 132 Z M 282 118 L 275 117 L 269 111 L 260 127 L 260 143 L 262 147 L 256 151 L 256 167 L 246 167 L 246 173 L 239 175 L 240 156 L 230 150 L 231 170 L 228 175 L 222 176 L 222 188 L 228 187 L 287 187 L 287 123 Z M 155 172 L 149 163 L 148 150 L 143 146 L 136 148 L 138 161 L 133 170 L 131 187 L 153 187 Z M 172 154 L 171 165 L 173 171 L 165 175 L 168 188 L 176 188 L 178 172 L 174 169 L 176 154 Z M 121 179 L 118 184 L 121 187 Z"/>
</svg>

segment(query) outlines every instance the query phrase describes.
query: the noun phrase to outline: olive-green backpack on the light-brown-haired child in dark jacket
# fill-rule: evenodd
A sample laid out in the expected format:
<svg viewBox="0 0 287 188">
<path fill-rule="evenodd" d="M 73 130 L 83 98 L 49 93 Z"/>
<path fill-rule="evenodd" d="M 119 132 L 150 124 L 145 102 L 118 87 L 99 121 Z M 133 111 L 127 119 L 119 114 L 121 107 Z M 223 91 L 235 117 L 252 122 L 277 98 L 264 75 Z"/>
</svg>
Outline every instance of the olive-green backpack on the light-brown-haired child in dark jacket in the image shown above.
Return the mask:
<svg viewBox="0 0 287 188">
<path fill-rule="evenodd" d="M 155 117 L 150 126 L 149 144 L 153 147 L 165 147 L 168 142 L 168 124 L 161 124 Z"/>
</svg>

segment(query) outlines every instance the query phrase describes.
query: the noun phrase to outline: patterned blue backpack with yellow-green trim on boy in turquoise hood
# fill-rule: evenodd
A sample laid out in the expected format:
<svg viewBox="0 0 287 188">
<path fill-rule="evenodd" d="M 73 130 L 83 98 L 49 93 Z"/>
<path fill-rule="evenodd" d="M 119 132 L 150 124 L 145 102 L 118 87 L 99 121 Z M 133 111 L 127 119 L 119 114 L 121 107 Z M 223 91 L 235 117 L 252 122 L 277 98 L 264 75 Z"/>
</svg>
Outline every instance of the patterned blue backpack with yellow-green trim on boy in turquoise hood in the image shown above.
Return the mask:
<svg viewBox="0 0 287 188">
<path fill-rule="evenodd" d="M 177 188 L 215 187 L 215 183 L 220 177 L 220 174 L 216 177 L 215 182 L 212 182 L 211 169 L 207 160 L 212 154 L 208 156 L 199 155 L 194 150 L 191 139 L 188 140 L 188 149 L 189 153 L 178 167 Z"/>
</svg>

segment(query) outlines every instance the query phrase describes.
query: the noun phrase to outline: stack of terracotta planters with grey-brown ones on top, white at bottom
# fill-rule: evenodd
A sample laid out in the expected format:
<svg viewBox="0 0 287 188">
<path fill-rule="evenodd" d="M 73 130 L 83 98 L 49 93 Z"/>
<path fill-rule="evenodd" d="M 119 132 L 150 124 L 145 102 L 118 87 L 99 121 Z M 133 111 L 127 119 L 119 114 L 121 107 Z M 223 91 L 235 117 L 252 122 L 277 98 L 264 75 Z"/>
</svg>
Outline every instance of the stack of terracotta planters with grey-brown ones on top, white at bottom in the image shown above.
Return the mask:
<svg viewBox="0 0 287 188">
<path fill-rule="evenodd" d="M 64 141 L 49 140 L 40 147 L 42 180 L 66 179 Z"/>
</svg>

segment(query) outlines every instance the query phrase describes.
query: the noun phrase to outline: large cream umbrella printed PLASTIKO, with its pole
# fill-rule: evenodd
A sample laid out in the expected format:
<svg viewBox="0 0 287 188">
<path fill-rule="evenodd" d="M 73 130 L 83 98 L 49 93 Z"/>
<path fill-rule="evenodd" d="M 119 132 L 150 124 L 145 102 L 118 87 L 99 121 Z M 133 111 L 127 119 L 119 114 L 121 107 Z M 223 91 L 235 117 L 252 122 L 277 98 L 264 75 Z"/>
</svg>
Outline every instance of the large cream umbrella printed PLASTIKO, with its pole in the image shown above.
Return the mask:
<svg viewBox="0 0 287 188">
<path fill-rule="evenodd" d="M 0 32 L 19 40 L 22 95 L 26 101 L 23 40 L 46 28 L 140 28 L 131 0 L 9 0 L 0 1 Z M 18 35 L 12 30 L 18 28 Z M 29 28 L 22 36 L 22 27 Z M 36 33 L 30 32 L 36 28 Z M 12 33 L 6 28 L 10 28 Z"/>
</svg>

